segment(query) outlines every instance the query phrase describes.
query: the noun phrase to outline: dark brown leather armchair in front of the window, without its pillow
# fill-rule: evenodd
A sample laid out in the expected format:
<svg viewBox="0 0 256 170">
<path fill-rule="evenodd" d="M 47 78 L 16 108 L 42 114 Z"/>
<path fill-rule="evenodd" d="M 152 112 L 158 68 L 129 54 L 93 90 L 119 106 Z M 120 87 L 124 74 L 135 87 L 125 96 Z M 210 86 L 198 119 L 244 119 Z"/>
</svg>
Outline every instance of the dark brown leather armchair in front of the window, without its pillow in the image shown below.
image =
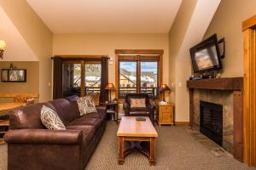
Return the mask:
<svg viewBox="0 0 256 170">
<path fill-rule="evenodd" d="M 145 99 L 146 107 L 131 108 L 131 99 Z M 154 111 L 156 107 L 150 103 L 148 94 L 126 94 L 123 109 L 125 116 L 148 116 L 154 124 Z"/>
</svg>

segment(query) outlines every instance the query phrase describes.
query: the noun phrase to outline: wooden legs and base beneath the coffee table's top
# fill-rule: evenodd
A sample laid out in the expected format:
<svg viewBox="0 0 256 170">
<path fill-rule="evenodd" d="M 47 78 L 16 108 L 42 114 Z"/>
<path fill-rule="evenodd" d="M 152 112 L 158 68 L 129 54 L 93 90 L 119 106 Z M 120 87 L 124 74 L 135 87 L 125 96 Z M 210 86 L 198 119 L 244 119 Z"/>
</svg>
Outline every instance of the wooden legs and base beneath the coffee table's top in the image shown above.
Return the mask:
<svg viewBox="0 0 256 170">
<path fill-rule="evenodd" d="M 130 143 L 130 148 L 125 150 L 125 141 Z M 149 148 L 143 145 L 143 142 L 149 142 Z M 119 165 L 123 165 L 125 161 L 125 156 L 128 156 L 132 150 L 138 150 L 144 156 L 149 159 L 149 165 L 155 165 L 155 137 L 126 137 L 119 136 Z"/>
</svg>

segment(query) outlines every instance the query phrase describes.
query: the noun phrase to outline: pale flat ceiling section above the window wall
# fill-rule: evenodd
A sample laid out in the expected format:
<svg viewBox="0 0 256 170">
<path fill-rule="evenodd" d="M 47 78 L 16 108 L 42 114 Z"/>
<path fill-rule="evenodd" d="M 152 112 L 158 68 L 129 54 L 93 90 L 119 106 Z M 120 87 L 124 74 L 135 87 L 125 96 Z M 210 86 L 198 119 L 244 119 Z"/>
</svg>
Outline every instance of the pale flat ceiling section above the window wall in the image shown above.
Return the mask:
<svg viewBox="0 0 256 170">
<path fill-rule="evenodd" d="M 167 33 L 182 0 L 26 0 L 54 33 Z"/>
</svg>

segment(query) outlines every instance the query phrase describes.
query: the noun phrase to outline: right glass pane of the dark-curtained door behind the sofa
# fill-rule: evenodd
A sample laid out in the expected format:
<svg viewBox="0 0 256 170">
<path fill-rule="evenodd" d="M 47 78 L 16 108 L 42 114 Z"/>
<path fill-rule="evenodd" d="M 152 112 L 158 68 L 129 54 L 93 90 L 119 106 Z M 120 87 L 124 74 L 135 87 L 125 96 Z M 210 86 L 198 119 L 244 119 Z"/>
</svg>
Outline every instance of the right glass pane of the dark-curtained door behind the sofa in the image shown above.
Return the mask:
<svg viewBox="0 0 256 170">
<path fill-rule="evenodd" d="M 85 64 L 85 94 L 100 94 L 101 64 Z"/>
</svg>

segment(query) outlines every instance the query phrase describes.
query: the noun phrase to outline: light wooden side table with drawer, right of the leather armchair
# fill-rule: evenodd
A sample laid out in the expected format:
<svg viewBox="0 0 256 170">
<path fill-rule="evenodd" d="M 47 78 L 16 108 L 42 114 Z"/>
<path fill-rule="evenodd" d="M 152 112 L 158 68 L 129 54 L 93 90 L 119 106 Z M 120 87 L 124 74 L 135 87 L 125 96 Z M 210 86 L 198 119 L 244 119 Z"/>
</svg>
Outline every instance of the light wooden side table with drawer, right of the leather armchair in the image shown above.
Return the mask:
<svg viewBox="0 0 256 170">
<path fill-rule="evenodd" d="M 166 105 L 157 105 L 156 121 L 161 125 L 175 125 L 174 106 L 167 103 Z"/>
</svg>

